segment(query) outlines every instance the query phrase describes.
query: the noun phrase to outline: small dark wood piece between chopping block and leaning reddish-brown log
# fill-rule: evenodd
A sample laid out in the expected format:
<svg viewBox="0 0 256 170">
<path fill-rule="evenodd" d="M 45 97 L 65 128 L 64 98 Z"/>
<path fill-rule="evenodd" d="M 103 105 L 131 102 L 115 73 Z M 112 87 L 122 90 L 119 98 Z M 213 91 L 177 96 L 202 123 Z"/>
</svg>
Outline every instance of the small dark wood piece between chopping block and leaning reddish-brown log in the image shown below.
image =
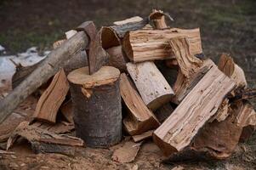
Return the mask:
<svg viewBox="0 0 256 170">
<path fill-rule="evenodd" d="M 62 115 L 65 116 L 65 119 L 68 122 L 71 122 L 72 124 L 74 123 L 73 121 L 74 112 L 73 112 L 73 105 L 72 105 L 71 99 L 65 102 L 65 104 L 60 106 L 60 111 Z"/>
</svg>

